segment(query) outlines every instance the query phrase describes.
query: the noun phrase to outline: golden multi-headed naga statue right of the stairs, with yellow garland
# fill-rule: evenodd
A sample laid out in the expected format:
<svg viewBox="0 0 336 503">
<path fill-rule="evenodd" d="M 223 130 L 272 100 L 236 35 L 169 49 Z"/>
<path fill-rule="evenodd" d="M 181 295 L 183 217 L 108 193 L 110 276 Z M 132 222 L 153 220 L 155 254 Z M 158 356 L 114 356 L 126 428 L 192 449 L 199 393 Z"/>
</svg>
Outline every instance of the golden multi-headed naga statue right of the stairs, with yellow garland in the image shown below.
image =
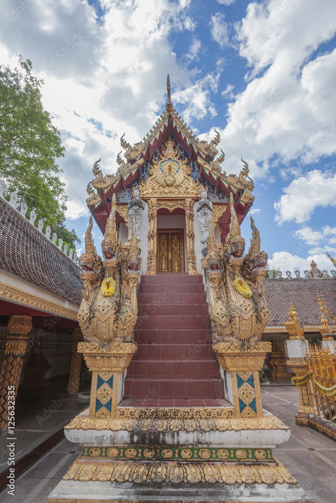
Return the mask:
<svg viewBox="0 0 336 503">
<path fill-rule="evenodd" d="M 232 193 L 230 210 L 230 229 L 223 250 L 215 240 L 210 219 L 207 274 L 210 316 L 215 328 L 213 342 L 229 343 L 228 350 L 253 351 L 270 316 L 263 298 L 267 254 L 260 251 L 260 235 L 251 218 L 251 245 L 244 257 L 245 240 L 240 235 Z"/>
</svg>

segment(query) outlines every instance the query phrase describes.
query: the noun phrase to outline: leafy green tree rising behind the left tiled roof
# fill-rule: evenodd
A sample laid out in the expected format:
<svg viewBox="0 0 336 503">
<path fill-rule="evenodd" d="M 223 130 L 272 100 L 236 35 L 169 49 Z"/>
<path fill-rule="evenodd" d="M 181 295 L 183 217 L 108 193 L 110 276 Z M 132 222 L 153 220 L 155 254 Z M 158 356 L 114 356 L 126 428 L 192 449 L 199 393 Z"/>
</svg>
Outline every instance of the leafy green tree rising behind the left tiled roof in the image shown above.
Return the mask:
<svg viewBox="0 0 336 503">
<path fill-rule="evenodd" d="M 81 240 L 74 229 L 64 226 L 67 196 L 56 163 L 64 156 L 60 133 L 43 109 L 40 88 L 43 80 L 32 75 L 32 63 L 19 56 L 19 68 L 0 66 L 0 178 L 7 194 L 34 209 L 52 232 L 71 247 Z"/>
</svg>

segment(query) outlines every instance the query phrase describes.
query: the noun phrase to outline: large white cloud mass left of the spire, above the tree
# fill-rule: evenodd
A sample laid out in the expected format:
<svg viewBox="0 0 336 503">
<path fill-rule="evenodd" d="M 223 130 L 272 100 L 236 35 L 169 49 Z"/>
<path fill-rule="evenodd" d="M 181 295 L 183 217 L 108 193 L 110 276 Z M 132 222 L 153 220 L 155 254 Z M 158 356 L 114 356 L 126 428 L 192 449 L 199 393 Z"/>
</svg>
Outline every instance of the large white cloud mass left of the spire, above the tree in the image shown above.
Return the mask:
<svg viewBox="0 0 336 503">
<path fill-rule="evenodd" d="M 93 163 L 101 157 L 103 173 L 115 173 L 122 133 L 133 144 L 153 126 L 164 109 L 167 71 L 175 88 L 191 86 L 195 71 L 178 66 L 169 41 L 173 29 L 194 29 L 190 5 L 191 0 L 104 0 L 97 22 L 88 2 L 35 0 L 9 25 L 0 20 L 2 62 L 14 67 L 21 53 L 44 78 L 43 105 L 66 147 L 58 163 L 70 195 L 68 218 L 87 215 Z M 12 10 L 11 0 L 4 0 L 3 15 Z M 214 112 L 205 88 L 211 89 L 210 81 L 203 89 L 205 113 L 209 107 Z"/>
</svg>

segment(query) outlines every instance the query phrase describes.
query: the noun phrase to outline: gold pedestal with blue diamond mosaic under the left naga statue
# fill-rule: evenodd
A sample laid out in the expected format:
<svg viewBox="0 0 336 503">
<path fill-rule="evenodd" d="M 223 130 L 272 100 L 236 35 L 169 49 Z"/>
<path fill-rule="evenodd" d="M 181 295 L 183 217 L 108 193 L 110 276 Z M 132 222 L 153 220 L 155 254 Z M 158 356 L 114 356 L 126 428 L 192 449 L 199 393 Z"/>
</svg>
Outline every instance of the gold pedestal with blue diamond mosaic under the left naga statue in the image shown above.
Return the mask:
<svg viewBox="0 0 336 503">
<path fill-rule="evenodd" d="M 114 351 L 92 343 L 78 344 L 78 351 L 92 371 L 90 418 L 110 420 L 116 416 L 122 398 L 122 375 L 137 349 L 133 343 L 121 343 Z"/>
</svg>

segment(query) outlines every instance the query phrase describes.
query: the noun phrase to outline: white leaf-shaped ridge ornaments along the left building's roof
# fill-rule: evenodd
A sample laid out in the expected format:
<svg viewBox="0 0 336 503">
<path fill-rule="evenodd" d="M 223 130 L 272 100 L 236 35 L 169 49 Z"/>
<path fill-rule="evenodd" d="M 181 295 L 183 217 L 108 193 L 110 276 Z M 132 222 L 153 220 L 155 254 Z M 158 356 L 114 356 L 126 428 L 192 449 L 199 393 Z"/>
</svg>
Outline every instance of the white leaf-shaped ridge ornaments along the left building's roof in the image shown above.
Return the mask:
<svg viewBox="0 0 336 503">
<path fill-rule="evenodd" d="M 57 240 L 56 232 L 54 232 L 52 234 L 52 238 L 50 239 L 51 229 L 50 229 L 49 225 L 47 225 L 47 227 L 45 228 L 45 234 L 43 234 L 42 230 L 44 228 L 44 221 L 42 219 L 40 219 L 38 221 L 38 226 L 36 227 L 36 225 L 35 225 L 35 220 L 36 220 L 35 211 L 32 210 L 30 212 L 30 218 L 28 220 L 28 217 L 26 216 L 26 213 L 28 211 L 28 205 L 27 205 L 26 201 L 19 203 L 18 202 L 19 197 L 16 192 L 11 192 L 10 200 L 7 201 L 7 199 L 5 199 L 5 197 L 4 197 L 5 190 L 6 190 L 5 180 L 0 180 L 0 200 L 2 199 L 3 201 L 5 201 L 5 203 L 11 205 L 12 208 L 19 215 L 21 215 L 22 218 L 25 218 L 27 220 L 27 222 L 30 223 L 37 232 L 40 232 L 45 239 L 47 239 L 49 242 L 53 243 L 53 245 L 56 248 L 60 249 L 62 251 L 62 253 L 66 257 L 68 257 L 69 260 L 71 260 L 74 264 L 76 264 L 79 267 L 78 257 L 77 257 L 76 251 L 73 248 L 71 248 L 69 250 L 68 244 L 66 244 L 66 243 L 64 243 L 64 247 L 63 247 L 63 239 L 61 239 L 61 238 L 58 240 L 58 245 L 57 245 L 56 244 L 56 240 Z M 20 209 L 18 209 L 18 208 L 20 208 Z M 68 255 L 68 251 L 69 251 L 69 255 Z"/>
</svg>

